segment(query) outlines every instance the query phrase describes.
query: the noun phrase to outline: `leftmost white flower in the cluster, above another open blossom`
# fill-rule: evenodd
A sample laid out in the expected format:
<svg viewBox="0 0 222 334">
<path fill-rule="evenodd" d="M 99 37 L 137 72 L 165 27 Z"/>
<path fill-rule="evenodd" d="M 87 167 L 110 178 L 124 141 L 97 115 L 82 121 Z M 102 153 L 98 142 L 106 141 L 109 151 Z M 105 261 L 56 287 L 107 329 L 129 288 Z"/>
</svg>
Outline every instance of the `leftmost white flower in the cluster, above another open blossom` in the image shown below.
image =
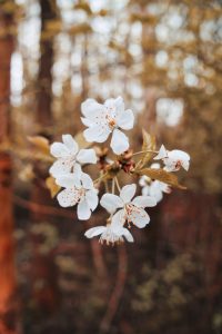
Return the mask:
<svg viewBox="0 0 222 334">
<path fill-rule="evenodd" d="M 71 135 L 63 135 L 62 141 L 53 143 L 50 147 L 51 155 L 57 158 L 49 170 L 53 177 L 70 171 L 80 175 L 81 165 L 97 163 L 94 149 L 79 149 Z"/>
</svg>

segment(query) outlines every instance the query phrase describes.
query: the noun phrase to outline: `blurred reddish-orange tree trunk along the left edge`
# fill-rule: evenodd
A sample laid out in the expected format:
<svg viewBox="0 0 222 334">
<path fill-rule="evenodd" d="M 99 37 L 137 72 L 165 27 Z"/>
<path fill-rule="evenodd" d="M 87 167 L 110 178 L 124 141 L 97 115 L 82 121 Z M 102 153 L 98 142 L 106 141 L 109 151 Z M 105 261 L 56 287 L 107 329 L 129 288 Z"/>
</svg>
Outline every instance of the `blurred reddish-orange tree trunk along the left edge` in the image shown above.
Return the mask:
<svg viewBox="0 0 222 334">
<path fill-rule="evenodd" d="M 0 145 L 10 134 L 10 61 L 13 37 L 9 28 L 13 14 L 0 8 Z M 0 151 L 0 333 L 18 333 L 16 321 L 16 271 L 13 244 L 12 161 Z"/>
</svg>

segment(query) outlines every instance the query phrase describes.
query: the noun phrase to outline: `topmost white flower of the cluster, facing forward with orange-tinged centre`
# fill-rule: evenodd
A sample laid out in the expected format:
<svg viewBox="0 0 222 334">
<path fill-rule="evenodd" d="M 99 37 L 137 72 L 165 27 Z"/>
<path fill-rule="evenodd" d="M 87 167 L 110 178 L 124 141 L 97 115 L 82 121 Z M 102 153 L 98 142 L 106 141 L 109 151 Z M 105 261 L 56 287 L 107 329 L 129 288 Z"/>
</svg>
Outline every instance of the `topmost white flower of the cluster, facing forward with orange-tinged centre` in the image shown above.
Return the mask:
<svg viewBox="0 0 222 334">
<path fill-rule="evenodd" d="M 114 154 L 128 150 L 129 139 L 120 129 L 132 129 L 134 116 L 132 110 L 124 110 L 121 97 L 108 99 L 104 105 L 88 99 L 81 105 L 81 110 L 84 116 L 82 122 L 88 127 L 83 131 L 87 141 L 104 143 L 112 134 L 110 146 Z"/>
</svg>

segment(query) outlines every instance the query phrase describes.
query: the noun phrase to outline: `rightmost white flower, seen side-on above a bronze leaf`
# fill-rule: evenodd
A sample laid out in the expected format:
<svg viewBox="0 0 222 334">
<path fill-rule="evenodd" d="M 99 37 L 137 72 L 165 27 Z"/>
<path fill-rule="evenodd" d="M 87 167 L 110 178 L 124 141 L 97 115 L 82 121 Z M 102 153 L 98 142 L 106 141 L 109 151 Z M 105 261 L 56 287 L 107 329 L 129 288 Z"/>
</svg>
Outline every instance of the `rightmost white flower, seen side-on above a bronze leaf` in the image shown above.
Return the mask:
<svg viewBox="0 0 222 334">
<path fill-rule="evenodd" d="M 190 156 L 180 149 L 167 150 L 162 145 L 159 154 L 153 158 L 154 160 L 163 160 L 167 171 L 176 171 L 181 167 L 185 170 L 190 167 Z"/>
</svg>

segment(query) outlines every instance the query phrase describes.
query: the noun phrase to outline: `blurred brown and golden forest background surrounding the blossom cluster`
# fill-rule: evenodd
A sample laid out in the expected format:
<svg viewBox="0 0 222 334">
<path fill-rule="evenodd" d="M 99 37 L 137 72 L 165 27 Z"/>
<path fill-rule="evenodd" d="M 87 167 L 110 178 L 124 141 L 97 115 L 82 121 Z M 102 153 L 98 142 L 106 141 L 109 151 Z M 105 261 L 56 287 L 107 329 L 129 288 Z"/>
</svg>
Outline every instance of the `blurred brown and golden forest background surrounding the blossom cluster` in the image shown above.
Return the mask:
<svg viewBox="0 0 222 334">
<path fill-rule="evenodd" d="M 221 0 L 0 0 L 0 334 L 222 333 Z M 122 96 L 141 127 L 191 155 L 135 243 L 46 187 L 27 140 L 77 134 L 80 105 Z"/>
</svg>

